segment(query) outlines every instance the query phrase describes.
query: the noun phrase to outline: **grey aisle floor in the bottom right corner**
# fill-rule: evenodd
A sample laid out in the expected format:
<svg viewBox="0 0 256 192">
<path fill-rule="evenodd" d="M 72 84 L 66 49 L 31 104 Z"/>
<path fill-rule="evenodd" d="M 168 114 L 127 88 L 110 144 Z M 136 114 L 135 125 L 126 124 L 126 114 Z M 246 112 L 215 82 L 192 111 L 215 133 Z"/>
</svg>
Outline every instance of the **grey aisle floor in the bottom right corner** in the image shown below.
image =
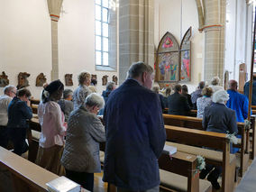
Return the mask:
<svg viewBox="0 0 256 192">
<path fill-rule="evenodd" d="M 251 166 L 245 173 L 235 192 L 255 192 L 256 191 L 256 160 L 253 160 Z"/>
</svg>

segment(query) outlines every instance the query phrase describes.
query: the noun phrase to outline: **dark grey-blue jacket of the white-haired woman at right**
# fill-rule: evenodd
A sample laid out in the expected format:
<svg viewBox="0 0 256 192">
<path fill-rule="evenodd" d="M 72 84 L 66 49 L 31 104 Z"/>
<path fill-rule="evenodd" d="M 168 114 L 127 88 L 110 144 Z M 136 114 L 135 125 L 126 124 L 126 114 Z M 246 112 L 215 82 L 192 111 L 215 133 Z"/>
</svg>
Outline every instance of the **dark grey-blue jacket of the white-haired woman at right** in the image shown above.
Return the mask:
<svg viewBox="0 0 256 192">
<path fill-rule="evenodd" d="M 205 108 L 203 127 L 208 132 L 237 133 L 235 111 L 224 104 L 212 103 Z"/>
</svg>

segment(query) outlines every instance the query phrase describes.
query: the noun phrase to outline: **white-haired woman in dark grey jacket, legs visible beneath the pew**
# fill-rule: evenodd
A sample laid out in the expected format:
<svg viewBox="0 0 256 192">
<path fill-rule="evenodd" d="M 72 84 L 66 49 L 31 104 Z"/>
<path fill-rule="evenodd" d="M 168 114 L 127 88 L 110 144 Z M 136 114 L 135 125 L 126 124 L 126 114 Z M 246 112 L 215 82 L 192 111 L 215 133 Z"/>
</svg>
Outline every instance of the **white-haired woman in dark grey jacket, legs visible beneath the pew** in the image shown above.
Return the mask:
<svg viewBox="0 0 256 192">
<path fill-rule="evenodd" d="M 203 116 L 203 127 L 208 132 L 216 133 L 237 133 L 237 124 L 235 111 L 227 108 L 225 103 L 229 99 L 229 95 L 225 90 L 218 90 L 213 96 L 213 104 L 206 106 Z M 215 168 L 215 169 L 214 169 Z M 206 175 L 214 169 L 207 177 L 215 189 L 219 189 L 220 185 L 217 182 L 222 168 L 213 165 L 206 165 L 200 173 L 200 178 L 206 178 Z"/>
</svg>

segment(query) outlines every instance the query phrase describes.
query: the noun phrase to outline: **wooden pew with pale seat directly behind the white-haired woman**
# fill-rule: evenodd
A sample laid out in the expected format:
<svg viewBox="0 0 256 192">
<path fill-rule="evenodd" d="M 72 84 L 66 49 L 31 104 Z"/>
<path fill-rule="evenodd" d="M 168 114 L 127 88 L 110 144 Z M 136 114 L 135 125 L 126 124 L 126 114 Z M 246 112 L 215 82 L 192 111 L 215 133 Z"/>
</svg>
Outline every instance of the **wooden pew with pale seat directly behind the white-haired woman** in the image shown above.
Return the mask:
<svg viewBox="0 0 256 192">
<path fill-rule="evenodd" d="M 205 156 L 206 163 L 222 166 L 222 191 L 232 192 L 234 187 L 234 173 L 235 173 L 235 155 L 230 154 L 230 142 L 224 133 L 212 133 L 195 129 L 188 129 L 177 126 L 165 125 L 167 140 L 171 145 L 177 146 L 178 151 L 193 153 Z M 188 139 L 189 138 L 189 139 Z M 176 144 L 176 143 L 177 144 Z M 182 143 L 182 144 L 178 144 Z M 214 149 L 217 151 L 202 149 L 192 146 L 201 146 Z M 210 152 L 209 152 L 210 151 Z M 206 154 L 213 156 L 213 158 L 206 157 Z M 216 155 L 215 155 L 216 154 Z M 219 157 L 222 154 L 221 158 Z M 222 161 L 217 159 L 222 159 Z"/>
</svg>

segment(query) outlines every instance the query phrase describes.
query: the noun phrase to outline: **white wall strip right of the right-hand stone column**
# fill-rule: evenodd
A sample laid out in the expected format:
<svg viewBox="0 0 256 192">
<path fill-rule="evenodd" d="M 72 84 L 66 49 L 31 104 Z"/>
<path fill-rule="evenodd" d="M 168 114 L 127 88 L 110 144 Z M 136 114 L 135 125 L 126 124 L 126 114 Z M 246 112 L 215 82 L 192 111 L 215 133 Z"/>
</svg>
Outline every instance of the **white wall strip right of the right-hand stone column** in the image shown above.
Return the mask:
<svg viewBox="0 0 256 192">
<path fill-rule="evenodd" d="M 251 66 L 251 63 L 248 63 L 248 59 L 246 59 L 251 56 L 247 53 L 247 51 L 251 51 L 249 42 L 251 41 L 251 32 L 249 35 L 246 34 L 246 28 L 250 28 L 251 23 L 247 21 L 246 9 L 246 2 L 243 0 L 227 0 L 224 70 L 229 71 L 230 79 L 237 81 L 239 81 L 239 65 L 246 63 L 247 72 L 250 72 Z M 246 35 L 248 36 L 246 37 Z M 249 42 L 248 48 L 246 41 Z"/>
</svg>

